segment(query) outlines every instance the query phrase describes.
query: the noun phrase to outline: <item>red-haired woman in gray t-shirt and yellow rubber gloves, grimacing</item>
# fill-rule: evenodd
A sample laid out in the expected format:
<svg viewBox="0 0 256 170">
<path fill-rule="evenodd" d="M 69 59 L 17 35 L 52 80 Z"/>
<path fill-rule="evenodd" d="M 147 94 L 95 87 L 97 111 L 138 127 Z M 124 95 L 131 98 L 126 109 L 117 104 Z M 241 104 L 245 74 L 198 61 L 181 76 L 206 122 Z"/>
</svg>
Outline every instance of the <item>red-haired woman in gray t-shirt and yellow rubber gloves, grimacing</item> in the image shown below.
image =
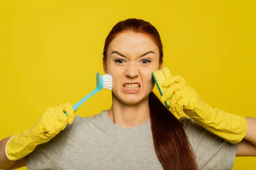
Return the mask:
<svg viewBox="0 0 256 170">
<path fill-rule="evenodd" d="M 48 108 L 30 130 L 1 141 L 0 167 L 226 170 L 232 169 L 236 155 L 256 155 L 253 118 L 204 111 L 204 102 L 198 102 L 196 92 L 181 77 L 163 83 L 170 86 L 161 100 L 171 98 L 172 112 L 184 111 L 197 122 L 178 120 L 153 94 L 151 73 L 162 69 L 163 46 L 150 23 L 137 19 L 117 23 L 106 38 L 103 56 L 104 71 L 113 77 L 112 107 L 92 118 L 75 119 L 70 104 Z M 206 123 L 213 112 L 216 117 Z M 225 115 L 230 123 L 224 122 Z M 218 119 L 219 126 L 214 123 Z M 239 128 L 232 124 L 238 120 Z"/>
</svg>

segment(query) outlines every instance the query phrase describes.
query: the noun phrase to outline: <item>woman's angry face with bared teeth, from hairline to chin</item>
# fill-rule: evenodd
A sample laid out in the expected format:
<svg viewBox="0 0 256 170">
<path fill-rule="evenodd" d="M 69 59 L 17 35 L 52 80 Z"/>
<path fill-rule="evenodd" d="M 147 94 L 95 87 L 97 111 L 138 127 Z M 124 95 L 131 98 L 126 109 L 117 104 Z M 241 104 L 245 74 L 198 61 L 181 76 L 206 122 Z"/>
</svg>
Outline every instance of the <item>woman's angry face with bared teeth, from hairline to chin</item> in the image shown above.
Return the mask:
<svg viewBox="0 0 256 170">
<path fill-rule="evenodd" d="M 145 34 L 121 33 L 108 46 L 105 73 L 113 77 L 113 94 L 134 105 L 154 88 L 152 72 L 161 69 L 159 49 Z"/>
</svg>

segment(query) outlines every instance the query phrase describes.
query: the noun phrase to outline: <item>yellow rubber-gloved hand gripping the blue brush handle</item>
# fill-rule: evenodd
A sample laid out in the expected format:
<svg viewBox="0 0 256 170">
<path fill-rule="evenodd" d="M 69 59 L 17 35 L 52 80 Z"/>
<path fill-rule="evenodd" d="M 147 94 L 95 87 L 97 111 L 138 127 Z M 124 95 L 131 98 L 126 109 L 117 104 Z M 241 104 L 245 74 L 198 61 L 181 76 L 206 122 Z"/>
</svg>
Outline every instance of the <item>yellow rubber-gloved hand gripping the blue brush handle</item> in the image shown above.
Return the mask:
<svg viewBox="0 0 256 170">
<path fill-rule="evenodd" d="M 67 113 L 67 116 L 64 114 Z M 18 160 L 31 153 L 38 144 L 46 143 L 75 119 L 69 103 L 48 108 L 30 130 L 12 136 L 6 144 L 6 156 Z"/>
</svg>

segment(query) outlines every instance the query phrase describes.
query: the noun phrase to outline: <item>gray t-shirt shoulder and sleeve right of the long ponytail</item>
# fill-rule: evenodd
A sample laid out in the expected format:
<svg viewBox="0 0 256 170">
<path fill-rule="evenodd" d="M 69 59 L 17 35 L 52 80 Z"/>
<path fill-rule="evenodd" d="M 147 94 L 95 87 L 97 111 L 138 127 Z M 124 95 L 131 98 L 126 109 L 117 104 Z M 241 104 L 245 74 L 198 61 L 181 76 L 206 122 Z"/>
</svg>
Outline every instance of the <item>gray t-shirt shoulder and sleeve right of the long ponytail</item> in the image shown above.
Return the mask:
<svg viewBox="0 0 256 170">
<path fill-rule="evenodd" d="M 237 144 L 230 144 L 221 137 L 209 132 L 191 118 L 181 117 L 189 143 L 194 150 L 200 169 L 232 169 Z M 223 164 L 220 164 L 223 162 Z"/>
</svg>

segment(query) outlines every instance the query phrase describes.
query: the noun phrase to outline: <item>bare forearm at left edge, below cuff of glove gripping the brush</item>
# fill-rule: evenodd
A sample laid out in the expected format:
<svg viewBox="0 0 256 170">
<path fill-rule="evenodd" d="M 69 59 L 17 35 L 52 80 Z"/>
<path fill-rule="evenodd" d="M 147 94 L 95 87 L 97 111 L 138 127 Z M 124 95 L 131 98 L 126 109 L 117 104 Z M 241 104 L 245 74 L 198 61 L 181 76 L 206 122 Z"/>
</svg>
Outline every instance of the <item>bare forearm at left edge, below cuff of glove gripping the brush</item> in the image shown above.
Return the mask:
<svg viewBox="0 0 256 170">
<path fill-rule="evenodd" d="M 11 137 L 7 137 L 3 140 L 0 141 L 0 169 L 5 170 L 9 167 L 12 167 L 16 161 L 11 161 L 6 157 L 6 153 L 5 153 L 5 147 L 6 147 L 6 143 L 8 142 L 8 140 Z"/>
</svg>

